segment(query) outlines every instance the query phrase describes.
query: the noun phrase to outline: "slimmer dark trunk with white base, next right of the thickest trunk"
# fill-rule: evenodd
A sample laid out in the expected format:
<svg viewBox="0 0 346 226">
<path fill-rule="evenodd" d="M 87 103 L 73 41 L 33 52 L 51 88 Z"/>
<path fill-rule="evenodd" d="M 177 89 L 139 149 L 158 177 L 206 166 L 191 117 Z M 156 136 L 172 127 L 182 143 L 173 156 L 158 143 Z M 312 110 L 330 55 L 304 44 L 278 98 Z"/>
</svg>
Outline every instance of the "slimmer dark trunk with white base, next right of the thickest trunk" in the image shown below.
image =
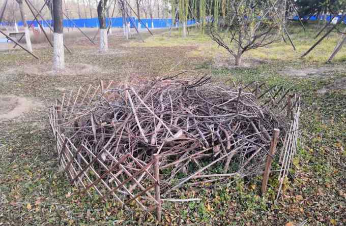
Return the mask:
<svg viewBox="0 0 346 226">
<path fill-rule="evenodd" d="M 106 26 L 106 5 L 107 0 L 100 0 L 97 6 L 97 16 L 100 23 L 100 52 L 108 51 L 108 37 Z"/>
</svg>

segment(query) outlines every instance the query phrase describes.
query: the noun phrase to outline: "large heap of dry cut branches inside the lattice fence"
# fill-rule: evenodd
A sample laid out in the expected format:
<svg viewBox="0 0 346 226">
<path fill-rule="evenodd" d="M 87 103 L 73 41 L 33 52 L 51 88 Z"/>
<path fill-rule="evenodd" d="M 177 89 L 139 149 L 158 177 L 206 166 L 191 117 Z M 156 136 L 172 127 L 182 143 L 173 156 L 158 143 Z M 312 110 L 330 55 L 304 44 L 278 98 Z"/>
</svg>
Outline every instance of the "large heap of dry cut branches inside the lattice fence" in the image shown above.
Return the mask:
<svg viewBox="0 0 346 226">
<path fill-rule="evenodd" d="M 280 128 L 284 136 L 289 126 L 252 92 L 211 84 L 206 77 L 123 84 L 103 90 L 89 107 L 64 111 L 70 112 L 61 127 L 64 136 L 88 163 L 92 156 L 84 149 L 109 167 L 128 153 L 144 166 L 160 154 L 162 192 L 191 180 L 196 185 L 204 178 L 262 173 L 272 130 Z M 123 163 L 129 171 L 132 164 Z"/>
</svg>

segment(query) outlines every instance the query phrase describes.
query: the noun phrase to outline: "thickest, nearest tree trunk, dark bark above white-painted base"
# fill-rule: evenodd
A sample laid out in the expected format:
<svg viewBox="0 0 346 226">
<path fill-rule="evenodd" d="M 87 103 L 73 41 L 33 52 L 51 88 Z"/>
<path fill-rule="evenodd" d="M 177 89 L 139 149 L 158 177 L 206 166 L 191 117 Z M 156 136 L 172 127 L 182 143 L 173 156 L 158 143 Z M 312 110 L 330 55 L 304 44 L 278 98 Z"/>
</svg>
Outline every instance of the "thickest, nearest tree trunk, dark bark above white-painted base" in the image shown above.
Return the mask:
<svg viewBox="0 0 346 226">
<path fill-rule="evenodd" d="M 65 69 L 64 53 L 64 26 L 63 26 L 63 2 L 62 0 L 53 1 L 53 70 L 61 71 Z"/>
</svg>

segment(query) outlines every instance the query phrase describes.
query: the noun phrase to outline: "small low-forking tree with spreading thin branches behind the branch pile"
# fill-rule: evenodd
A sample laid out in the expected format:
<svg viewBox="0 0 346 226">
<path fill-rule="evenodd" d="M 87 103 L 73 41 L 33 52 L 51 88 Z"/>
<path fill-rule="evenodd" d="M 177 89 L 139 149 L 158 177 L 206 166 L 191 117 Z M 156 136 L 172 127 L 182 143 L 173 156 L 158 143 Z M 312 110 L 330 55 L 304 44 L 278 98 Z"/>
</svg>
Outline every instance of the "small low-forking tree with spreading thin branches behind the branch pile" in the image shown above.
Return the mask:
<svg viewBox="0 0 346 226">
<path fill-rule="evenodd" d="M 236 66 L 244 52 L 280 40 L 282 17 L 270 1 L 230 0 L 222 29 L 210 25 L 212 40 L 235 58 Z"/>
</svg>

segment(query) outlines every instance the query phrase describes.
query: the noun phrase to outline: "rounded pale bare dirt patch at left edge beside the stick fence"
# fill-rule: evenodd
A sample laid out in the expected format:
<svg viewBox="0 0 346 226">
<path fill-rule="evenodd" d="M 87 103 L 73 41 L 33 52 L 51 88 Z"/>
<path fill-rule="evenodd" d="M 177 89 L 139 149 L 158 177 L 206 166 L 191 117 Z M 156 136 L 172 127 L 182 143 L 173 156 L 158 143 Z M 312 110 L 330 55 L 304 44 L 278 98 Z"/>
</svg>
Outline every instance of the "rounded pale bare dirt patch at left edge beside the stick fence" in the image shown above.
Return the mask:
<svg viewBox="0 0 346 226">
<path fill-rule="evenodd" d="M 0 96 L 0 122 L 19 117 L 38 106 L 38 103 L 28 98 Z"/>
</svg>

